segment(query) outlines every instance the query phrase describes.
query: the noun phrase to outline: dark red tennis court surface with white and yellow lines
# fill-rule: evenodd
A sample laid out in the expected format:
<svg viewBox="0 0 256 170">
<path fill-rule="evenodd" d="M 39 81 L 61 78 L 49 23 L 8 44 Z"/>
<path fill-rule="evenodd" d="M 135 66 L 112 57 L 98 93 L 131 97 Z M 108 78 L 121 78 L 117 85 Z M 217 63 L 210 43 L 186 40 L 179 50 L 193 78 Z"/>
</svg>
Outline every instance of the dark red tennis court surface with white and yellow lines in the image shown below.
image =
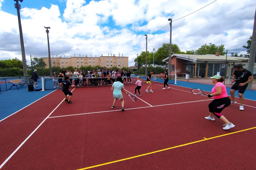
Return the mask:
<svg viewBox="0 0 256 170">
<path fill-rule="evenodd" d="M 204 119 L 212 98 L 170 87 L 142 85 L 124 112 L 111 87 L 76 88 L 72 104 L 56 90 L 0 122 L 1 169 L 256 169 L 256 101 L 225 108 L 223 130 Z"/>
</svg>

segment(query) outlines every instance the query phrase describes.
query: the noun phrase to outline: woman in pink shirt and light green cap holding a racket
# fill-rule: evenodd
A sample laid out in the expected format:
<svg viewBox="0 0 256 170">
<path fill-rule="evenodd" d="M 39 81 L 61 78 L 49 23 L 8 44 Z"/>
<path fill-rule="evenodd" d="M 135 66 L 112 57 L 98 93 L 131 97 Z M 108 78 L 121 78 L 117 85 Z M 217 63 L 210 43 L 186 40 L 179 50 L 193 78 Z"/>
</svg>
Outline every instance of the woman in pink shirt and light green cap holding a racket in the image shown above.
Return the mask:
<svg viewBox="0 0 256 170">
<path fill-rule="evenodd" d="M 212 83 L 215 86 L 212 88 L 212 94 L 208 94 L 208 97 L 213 97 L 214 100 L 208 105 L 210 116 L 205 117 L 208 120 L 215 120 L 213 115 L 225 122 L 223 129 L 227 130 L 234 128 L 235 125 L 230 123 L 220 112 L 231 104 L 231 100 L 228 97 L 226 86 L 222 83 L 224 81 L 223 77 L 220 75 L 215 75 L 212 78 Z"/>
</svg>

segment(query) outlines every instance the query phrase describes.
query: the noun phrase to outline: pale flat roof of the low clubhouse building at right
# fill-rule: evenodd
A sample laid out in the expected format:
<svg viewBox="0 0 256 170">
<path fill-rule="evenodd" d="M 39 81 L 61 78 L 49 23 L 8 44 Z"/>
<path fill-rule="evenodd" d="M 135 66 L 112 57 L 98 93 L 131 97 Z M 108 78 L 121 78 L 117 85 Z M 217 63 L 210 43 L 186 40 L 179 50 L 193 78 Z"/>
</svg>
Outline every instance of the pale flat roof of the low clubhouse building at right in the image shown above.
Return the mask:
<svg viewBox="0 0 256 170">
<path fill-rule="evenodd" d="M 172 54 L 172 57 L 176 56 L 177 58 L 182 58 L 190 61 L 226 61 L 226 56 L 215 56 L 214 54 L 206 54 L 206 55 L 191 55 L 191 54 Z M 169 57 L 164 58 L 163 62 L 168 62 Z M 228 62 L 241 62 L 248 61 L 249 58 L 243 57 L 232 57 L 227 56 Z"/>
</svg>

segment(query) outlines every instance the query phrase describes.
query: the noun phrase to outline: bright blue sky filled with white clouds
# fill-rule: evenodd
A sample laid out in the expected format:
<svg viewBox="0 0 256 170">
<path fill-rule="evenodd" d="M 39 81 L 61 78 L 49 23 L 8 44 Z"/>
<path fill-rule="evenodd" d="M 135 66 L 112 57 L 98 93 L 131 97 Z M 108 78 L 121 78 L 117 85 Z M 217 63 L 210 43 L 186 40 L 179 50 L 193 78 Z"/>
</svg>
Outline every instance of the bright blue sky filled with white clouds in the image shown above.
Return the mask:
<svg viewBox="0 0 256 170">
<path fill-rule="evenodd" d="M 44 27 L 51 27 L 51 57 L 120 53 L 129 57 L 129 66 L 134 66 L 137 54 L 146 51 L 144 35 L 148 35 L 149 52 L 162 43 L 170 43 L 169 18 L 172 44 L 177 44 L 181 51 L 197 50 L 204 43 L 224 44 L 225 50 L 247 45 L 252 36 L 255 0 L 214 1 L 24 0 L 19 3 L 27 64 L 30 65 L 30 55 L 48 56 Z M 22 60 L 14 3 L 0 0 L 0 60 Z"/>
</svg>

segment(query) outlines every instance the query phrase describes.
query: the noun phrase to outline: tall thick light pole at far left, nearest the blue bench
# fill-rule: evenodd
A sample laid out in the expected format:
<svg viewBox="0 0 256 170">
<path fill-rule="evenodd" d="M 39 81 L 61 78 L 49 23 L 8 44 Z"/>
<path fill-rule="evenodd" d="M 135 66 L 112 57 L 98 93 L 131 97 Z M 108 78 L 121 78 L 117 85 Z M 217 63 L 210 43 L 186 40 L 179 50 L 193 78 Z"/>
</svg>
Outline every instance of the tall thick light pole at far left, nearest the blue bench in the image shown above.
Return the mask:
<svg viewBox="0 0 256 170">
<path fill-rule="evenodd" d="M 19 31 L 20 31 L 20 47 L 21 47 L 21 56 L 22 56 L 23 75 L 28 76 L 28 68 L 27 68 L 25 47 L 24 47 L 24 41 L 23 41 L 23 33 L 22 33 L 21 20 L 20 20 L 21 5 L 19 4 L 19 1 L 23 2 L 23 0 L 14 0 L 14 1 L 16 2 L 16 4 L 14 4 L 14 7 L 17 9 Z M 25 80 L 28 82 L 28 77 L 25 77 Z"/>
</svg>

